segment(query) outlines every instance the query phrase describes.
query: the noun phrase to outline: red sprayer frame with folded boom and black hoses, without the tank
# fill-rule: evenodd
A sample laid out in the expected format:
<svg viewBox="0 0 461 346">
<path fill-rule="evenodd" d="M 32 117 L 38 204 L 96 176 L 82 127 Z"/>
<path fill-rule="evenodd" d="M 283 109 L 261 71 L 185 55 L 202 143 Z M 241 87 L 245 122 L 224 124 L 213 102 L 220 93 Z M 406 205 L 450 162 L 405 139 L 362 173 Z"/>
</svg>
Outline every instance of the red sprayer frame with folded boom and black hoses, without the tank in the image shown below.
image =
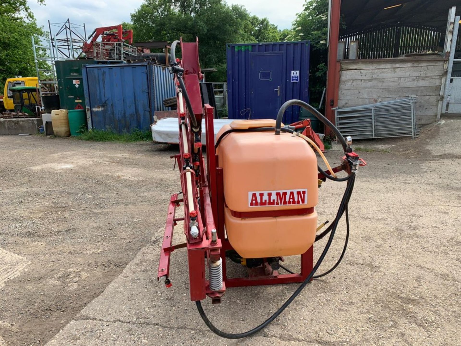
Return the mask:
<svg viewBox="0 0 461 346">
<path fill-rule="evenodd" d="M 181 45 L 182 60 L 175 59 L 175 47 L 178 43 Z M 177 114 L 180 147 L 180 153 L 171 156 L 171 158 L 175 158 L 178 166 L 180 167 L 182 192 L 173 194 L 168 206 L 165 235 L 160 253 L 158 279 L 165 280 L 166 287 L 170 287 L 172 285 L 169 277 L 171 252 L 180 248 L 186 248 L 189 262 L 190 299 L 196 302 L 199 313 L 207 326 L 214 333 L 225 338 L 236 339 L 246 337 L 254 334 L 272 322 L 273 319 L 275 319 L 286 308 L 286 306 L 290 304 L 296 295 L 301 292 L 304 286 L 315 277 L 314 273 L 319 268 L 321 261 L 325 257 L 326 251 L 328 251 L 339 219 L 343 213 L 345 213 L 347 217 L 347 203 L 349 202 L 350 194 L 352 193 L 357 167 L 359 165 L 363 166 L 366 163 L 365 161 L 359 159 L 357 154 L 352 152 L 352 149 L 350 148 L 350 144 L 352 142 L 350 139 L 348 138 L 348 143 L 346 143 L 334 125 L 332 125 L 328 120 L 325 120 L 326 118 L 319 114 L 318 111 L 315 111 L 319 114 L 319 119 L 324 121 L 326 125 L 332 126 L 336 129 L 336 133 L 340 136 L 339 140 L 343 144 L 345 153 L 343 163 L 340 166 L 335 168 L 330 167 L 329 171 L 331 175 L 325 173 L 320 167 L 318 167 L 319 173 L 317 173 L 316 168 L 314 171 L 315 175 L 313 178 L 315 179 L 316 185 L 317 174 L 319 184 L 322 181 L 325 181 L 325 179 L 347 181 L 346 192 L 344 193 L 336 218 L 325 231 L 315 237 L 315 240 L 317 241 L 325 237 L 327 234 L 330 234 L 330 239 L 328 240 L 327 246 L 325 246 L 325 250 L 320 256 L 319 261 L 315 263 L 315 265 L 313 265 L 313 246 L 311 246 L 305 253 L 301 254 L 301 272 L 297 274 L 278 273 L 278 268 L 283 268 L 283 266 L 278 265 L 278 262 L 283 261 L 283 258 L 249 259 L 252 262 L 252 265 L 249 265 L 250 261 L 239 257 L 238 254 L 236 254 L 236 251 L 233 251 L 233 247 L 229 239 L 226 238 L 225 208 L 227 207 L 227 204 L 225 201 L 223 187 L 223 168 L 219 167 L 219 156 L 216 155 L 215 151 L 213 108 L 208 104 L 203 105 L 201 101 L 199 80 L 202 76 L 198 57 L 198 39 L 196 39 L 196 42 L 191 43 L 182 42 L 182 40 L 173 42 L 171 45 L 171 60 L 173 61 L 171 64 L 171 72 L 175 74 L 175 82 L 177 85 Z M 310 129 L 310 126 L 308 126 L 308 120 L 307 123 L 300 122 L 299 124 L 294 124 L 293 126 L 283 127 L 280 125 L 284 111 L 291 105 L 299 105 L 309 109 L 311 113 L 314 112 L 311 106 L 302 101 L 288 101 L 281 107 L 275 127 L 268 129 L 260 128 L 255 131 L 273 131 L 275 129 L 275 134 L 290 132 L 300 135 L 295 132 L 295 129 L 306 127 L 306 134 L 311 135 L 310 132 L 307 133 Z M 206 126 L 206 159 L 202 153 L 201 145 L 202 119 L 205 120 Z M 232 130 L 227 132 L 230 131 Z M 216 145 L 219 145 L 222 137 L 225 137 L 226 134 L 227 133 L 224 133 L 221 138 L 217 138 Z M 317 135 L 313 134 L 311 137 L 313 143 L 323 146 L 323 143 L 321 143 Z M 348 177 L 342 179 L 337 178 L 335 173 L 339 171 L 347 172 L 349 174 Z M 177 217 L 176 208 L 181 204 L 183 204 L 185 216 Z M 264 214 L 266 212 L 260 213 Z M 266 213 L 264 215 L 268 214 Z M 272 216 L 277 215 L 274 214 Z M 179 245 L 172 245 L 173 229 L 178 221 L 183 221 L 183 232 L 186 242 Z M 229 235 L 229 230 L 227 230 L 227 235 Z M 231 257 L 231 260 L 235 260 L 237 257 L 237 261 L 235 262 L 242 260 L 242 264 L 249 268 L 248 277 L 228 278 L 226 276 L 226 257 Z M 342 257 L 340 260 L 341 259 Z M 208 262 L 209 280 L 206 279 L 206 261 Z M 339 264 L 339 261 L 337 264 Z M 266 322 L 247 333 L 229 334 L 219 331 L 219 329 L 214 327 L 207 319 L 200 304 L 200 301 L 207 298 L 207 296 L 212 299 L 213 304 L 220 303 L 221 298 L 225 294 L 225 290 L 230 287 L 296 282 L 302 284 L 290 298 L 291 300 L 289 299 L 290 301 L 287 301 L 287 303 L 284 304 L 284 306 L 282 306 L 268 320 L 266 320 Z"/>
</svg>

